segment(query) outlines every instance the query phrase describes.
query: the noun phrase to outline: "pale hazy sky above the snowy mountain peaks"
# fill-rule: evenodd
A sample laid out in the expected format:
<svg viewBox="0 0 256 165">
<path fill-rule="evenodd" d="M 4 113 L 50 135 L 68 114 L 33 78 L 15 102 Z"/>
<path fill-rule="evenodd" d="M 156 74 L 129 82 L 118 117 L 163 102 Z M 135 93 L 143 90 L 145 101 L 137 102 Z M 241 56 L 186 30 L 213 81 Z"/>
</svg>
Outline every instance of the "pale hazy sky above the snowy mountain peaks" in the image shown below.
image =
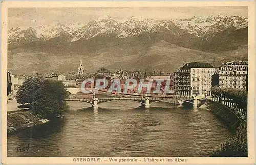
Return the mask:
<svg viewBox="0 0 256 165">
<path fill-rule="evenodd" d="M 136 18 L 177 19 L 217 15 L 247 17 L 247 7 L 115 7 L 115 8 L 8 8 L 8 29 L 53 23 L 88 23 L 109 15 L 116 20 Z"/>
</svg>

